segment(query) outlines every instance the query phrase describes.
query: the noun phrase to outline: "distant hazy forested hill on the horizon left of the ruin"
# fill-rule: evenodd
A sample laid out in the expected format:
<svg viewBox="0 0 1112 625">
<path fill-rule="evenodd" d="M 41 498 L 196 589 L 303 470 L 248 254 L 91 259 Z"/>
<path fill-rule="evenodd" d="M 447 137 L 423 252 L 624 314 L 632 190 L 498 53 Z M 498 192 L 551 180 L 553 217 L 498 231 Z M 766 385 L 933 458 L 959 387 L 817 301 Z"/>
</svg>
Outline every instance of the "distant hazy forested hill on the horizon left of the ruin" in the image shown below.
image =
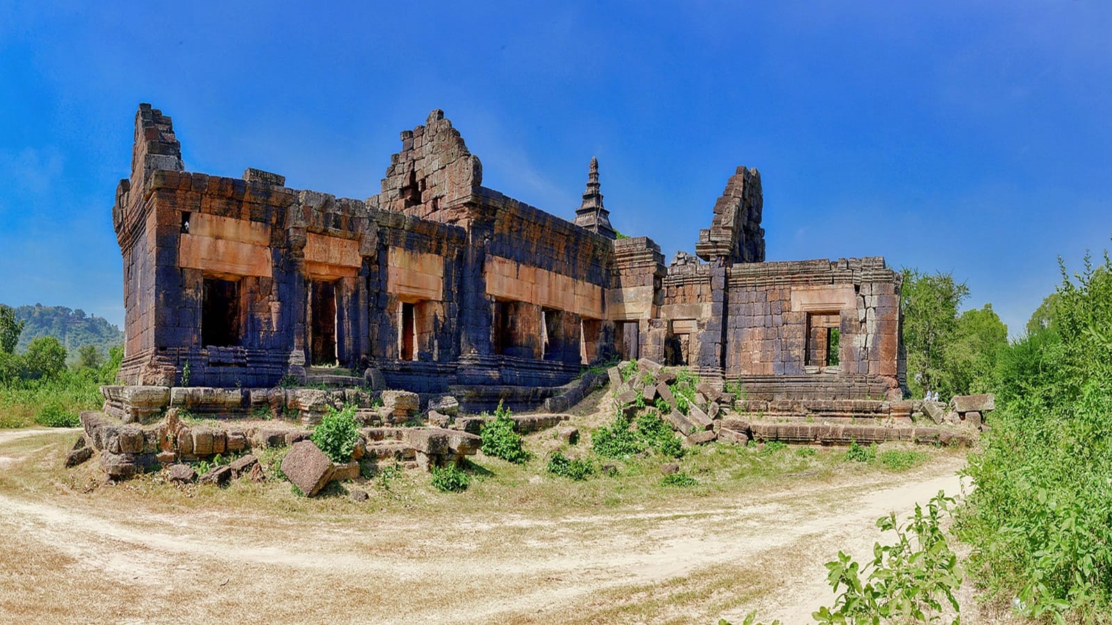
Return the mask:
<svg viewBox="0 0 1112 625">
<path fill-rule="evenodd" d="M 20 306 L 16 318 L 24 321 L 16 351 L 27 350 L 27 345 L 40 336 L 52 336 L 66 347 L 70 358 L 86 345 L 96 345 L 105 356 L 117 345 L 123 345 L 123 331 L 103 317 L 86 315 L 85 310 L 64 306 Z"/>
</svg>

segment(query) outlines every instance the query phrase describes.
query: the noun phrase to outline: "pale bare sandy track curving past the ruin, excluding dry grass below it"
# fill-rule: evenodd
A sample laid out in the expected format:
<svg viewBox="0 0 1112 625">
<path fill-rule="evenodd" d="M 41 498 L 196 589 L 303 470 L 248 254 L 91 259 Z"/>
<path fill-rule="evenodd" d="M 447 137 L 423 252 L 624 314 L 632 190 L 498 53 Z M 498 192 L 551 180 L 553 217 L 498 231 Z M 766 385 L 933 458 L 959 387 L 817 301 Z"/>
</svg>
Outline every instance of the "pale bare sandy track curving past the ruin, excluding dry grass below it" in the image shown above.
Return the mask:
<svg viewBox="0 0 1112 625">
<path fill-rule="evenodd" d="M 582 617 L 576 608 L 598 592 L 794 554 L 770 572 L 782 591 L 722 616 L 738 623 L 757 609 L 763 619 L 806 623 L 832 599 L 823 563 L 840 548 L 867 557 L 880 536 L 875 520 L 888 510 L 903 517 L 940 489 L 957 494 L 961 462 L 942 459 L 898 476 L 870 474 L 834 486 L 782 484 L 749 503 L 724 505 L 718 498 L 697 509 L 625 509 L 557 520 L 529 518 L 527 510 L 498 519 L 377 518 L 366 527 L 245 526 L 238 518 L 221 527 L 211 512 L 112 510 L 95 497 L 0 494 L 0 535 L 97 563 L 106 579 L 117 581 L 110 587 L 130 587 L 119 584 L 131 593 L 121 597 L 148 588 L 147 614 L 163 604 L 170 609 L 181 589 L 200 579 L 222 578 L 236 581 L 239 598 L 228 601 L 240 602 L 248 615 L 267 615 L 252 602 L 271 601 L 276 585 L 342 585 L 354 601 L 368 602 L 363 614 L 370 622 L 558 622 Z M 237 575 L 245 569 L 251 574 Z M 305 609 L 328 607 L 326 596 L 297 597 Z"/>
</svg>

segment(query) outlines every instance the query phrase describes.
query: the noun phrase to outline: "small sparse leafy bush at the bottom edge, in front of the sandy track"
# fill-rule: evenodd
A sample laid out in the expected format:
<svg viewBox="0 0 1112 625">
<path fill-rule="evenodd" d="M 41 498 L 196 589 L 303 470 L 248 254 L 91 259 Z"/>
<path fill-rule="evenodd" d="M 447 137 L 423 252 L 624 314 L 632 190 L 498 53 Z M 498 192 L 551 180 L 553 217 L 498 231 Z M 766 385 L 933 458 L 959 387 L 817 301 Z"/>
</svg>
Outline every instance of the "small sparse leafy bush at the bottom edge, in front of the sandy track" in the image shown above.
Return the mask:
<svg viewBox="0 0 1112 625">
<path fill-rule="evenodd" d="M 883 532 L 895 532 L 892 545 L 873 545 L 873 562 L 862 566 L 843 552 L 826 563 L 826 576 L 836 593 L 845 588 L 832 607 L 812 614 L 818 623 L 930 623 L 945 601 L 960 612 L 954 591 L 961 586 L 962 568 L 941 527 L 942 514 L 954 500 L 939 493 L 900 525 L 896 515 L 876 520 Z M 862 574 L 868 572 L 864 579 Z M 954 624 L 961 623 L 961 617 Z"/>
</svg>

